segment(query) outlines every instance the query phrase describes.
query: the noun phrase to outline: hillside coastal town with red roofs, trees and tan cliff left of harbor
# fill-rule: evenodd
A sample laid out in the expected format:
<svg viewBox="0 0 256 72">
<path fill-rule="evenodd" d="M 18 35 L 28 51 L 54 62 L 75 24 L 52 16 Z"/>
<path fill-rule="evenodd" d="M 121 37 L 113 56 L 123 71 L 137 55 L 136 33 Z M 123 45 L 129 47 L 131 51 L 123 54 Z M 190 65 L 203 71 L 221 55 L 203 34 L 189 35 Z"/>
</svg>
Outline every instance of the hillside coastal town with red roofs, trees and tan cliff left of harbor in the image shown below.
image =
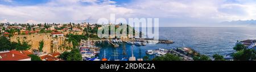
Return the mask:
<svg viewBox="0 0 256 72">
<path fill-rule="evenodd" d="M 119 24 L 115 27 L 121 26 Z M 100 39 L 97 36 L 99 24 L 89 23 L 44 23 L 44 24 L 17 24 L 1 23 L 1 52 L 0 61 L 33 61 L 33 57 L 42 61 L 68 60 L 67 53 L 75 54 L 80 60 L 88 60 L 100 53 L 95 43 L 106 41 L 114 47 L 116 43 L 132 43 L 146 45 L 146 43 L 134 38 Z M 111 40 L 111 41 L 110 41 Z M 138 41 L 137 41 L 138 40 Z M 171 44 L 170 40 L 162 43 Z M 82 58 L 82 59 L 81 59 Z M 70 59 L 72 60 L 72 59 Z M 92 59 L 90 59 L 92 61 Z M 95 60 L 95 59 L 93 59 Z"/>
</svg>

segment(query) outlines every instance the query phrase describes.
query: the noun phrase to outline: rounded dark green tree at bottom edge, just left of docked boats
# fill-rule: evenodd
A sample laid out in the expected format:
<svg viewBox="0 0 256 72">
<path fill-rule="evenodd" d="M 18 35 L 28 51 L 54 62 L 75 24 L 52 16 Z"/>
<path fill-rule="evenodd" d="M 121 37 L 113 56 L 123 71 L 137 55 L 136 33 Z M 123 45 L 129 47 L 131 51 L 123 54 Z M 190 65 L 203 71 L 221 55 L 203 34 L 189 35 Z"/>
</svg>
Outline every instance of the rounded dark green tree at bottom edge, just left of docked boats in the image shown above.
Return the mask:
<svg viewBox="0 0 256 72">
<path fill-rule="evenodd" d="M 67 61 L 81 61 L 82 55 L 79 52 L 79 49 L 72 49 L 70 54 L 67 57 Z"/>
</svg>

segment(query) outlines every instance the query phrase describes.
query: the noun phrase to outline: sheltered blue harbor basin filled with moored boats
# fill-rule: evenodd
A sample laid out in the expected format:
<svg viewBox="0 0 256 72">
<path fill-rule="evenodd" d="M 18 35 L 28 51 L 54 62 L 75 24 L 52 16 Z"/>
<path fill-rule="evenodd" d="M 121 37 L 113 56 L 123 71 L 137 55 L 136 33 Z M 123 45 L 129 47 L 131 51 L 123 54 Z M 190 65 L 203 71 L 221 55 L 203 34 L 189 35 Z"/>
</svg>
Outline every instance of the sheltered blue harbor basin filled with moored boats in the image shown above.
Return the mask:
<svg viewBox="0 0 256 72">
<path fill-rule="evenodd" d="M 146 50 L 155 48 L 155 45 L 169 45 L 161 41 L 151 39 L 102 39 L 102 40 L 81 40 L 80 52 L 83 61 L 143 61 L 147 56 Z M 173 42 L 173 41 L 170 41 Z M 150 58 L 154 58 L 152 55 Z"/>
</svg>

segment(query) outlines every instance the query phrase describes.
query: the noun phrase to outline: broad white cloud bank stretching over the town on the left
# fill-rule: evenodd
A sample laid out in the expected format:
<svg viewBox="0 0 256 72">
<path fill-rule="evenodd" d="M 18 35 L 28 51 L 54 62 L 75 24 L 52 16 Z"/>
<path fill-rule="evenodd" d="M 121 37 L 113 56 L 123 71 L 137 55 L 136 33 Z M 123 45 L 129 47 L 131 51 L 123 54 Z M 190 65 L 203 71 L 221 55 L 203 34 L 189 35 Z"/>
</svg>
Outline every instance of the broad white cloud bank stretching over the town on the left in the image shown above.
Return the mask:
<svg viewBox="0 0 256 72">
<path fill-rule="evenodd" d="M 67 3 L 73 3 L 66 5 Z M 99 18 L 109 18 L 110 14 L 126 15 L 133 10 L 115 5 L 82 5 L 79 1 L 55 1 L 35 6 L 0 5 L 0 16 L 12 22 L 27 23 L 28 20 L 48 23 L 97 22 Z"/>
</svg>

